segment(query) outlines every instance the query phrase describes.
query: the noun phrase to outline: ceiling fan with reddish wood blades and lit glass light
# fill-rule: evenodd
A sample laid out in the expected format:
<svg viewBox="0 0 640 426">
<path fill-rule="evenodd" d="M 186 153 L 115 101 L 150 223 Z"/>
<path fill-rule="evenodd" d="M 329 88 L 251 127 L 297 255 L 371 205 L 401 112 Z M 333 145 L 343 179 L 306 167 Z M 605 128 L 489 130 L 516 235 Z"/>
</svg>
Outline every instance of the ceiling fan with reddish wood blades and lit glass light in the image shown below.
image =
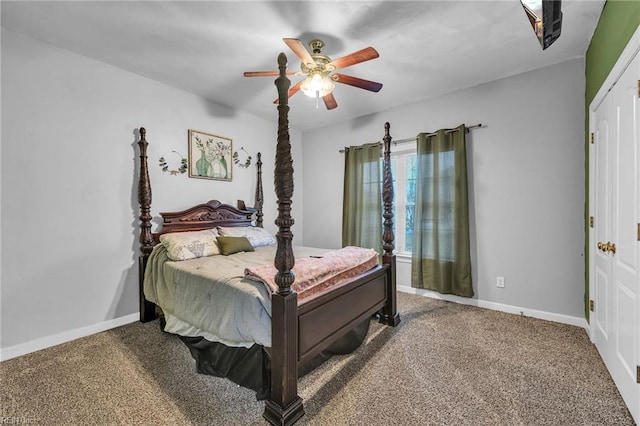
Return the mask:
<svg viewBox="0 0 640 426">
<path fill-rule="evenodd" d="M 289 97 L 302 90 L 307 96 L 316 98 L 316 102 L 322 98 L 327 109 L 334 109 L 338 106 L 338 103 L 333 96 L 335 87 L 333 82 L 347 84 L 371 92 L 378 92 L 382 89 L 381 83 L 333 72 L 336 69 L 347 68 L 351 65 L 377 58 L 379 56 L 378 52 L 373 47 L 365 47 L 334 61 L 322 53 L 322 48 L 324 47 L 322 40 L 311 40 L 309 42 L 312 53 L 309 53 L 297 38 L 283 38 L 282 40 L 302 61 L 300 71 L 287 71 L 287 75 L 306 76 L 304 80 L 297 82 L 289 89 Z M 278 71 L 247 71 L 244 73 L 245 77 L 275 77 L 278 75 L 280 75 Z M 278 100 L 276 99 L 274 103 L 278 103 Z"/>
</svg>

